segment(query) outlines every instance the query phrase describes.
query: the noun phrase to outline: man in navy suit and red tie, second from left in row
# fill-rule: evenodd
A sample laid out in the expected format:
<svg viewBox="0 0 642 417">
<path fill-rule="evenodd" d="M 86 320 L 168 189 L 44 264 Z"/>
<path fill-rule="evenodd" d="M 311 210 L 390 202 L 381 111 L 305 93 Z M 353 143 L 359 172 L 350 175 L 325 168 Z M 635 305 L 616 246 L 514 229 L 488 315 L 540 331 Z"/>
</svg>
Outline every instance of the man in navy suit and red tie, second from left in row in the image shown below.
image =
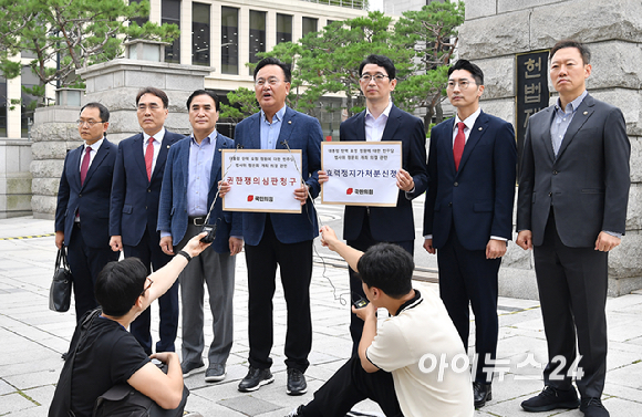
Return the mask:
<svg viewBox="0 0 642 417">
<path fill-rule="evenodd" d="M 168 105 L 167 94 L 162 90 L 146 87 L 138 92 L 136 115 L 143 133 L 118 144 L 112 184 L 110 246 L 113 251 L 124 251 L 125 258 L 138 258 L 147 267 L 147 274 L 152 273 L 152 267 L 158 271 L 172 260 L 161 250 L 161 236 L 156 231 L 167 152 L 184 137 L 165 129 Z M 161 340 L 156 352 L 175 352 L 178 281 L 158 299 L 158 306 Z M 145 310 L 130 327 L 147 355 L 152 354 L 151 319 L 151 309 Z"/>
</svg>

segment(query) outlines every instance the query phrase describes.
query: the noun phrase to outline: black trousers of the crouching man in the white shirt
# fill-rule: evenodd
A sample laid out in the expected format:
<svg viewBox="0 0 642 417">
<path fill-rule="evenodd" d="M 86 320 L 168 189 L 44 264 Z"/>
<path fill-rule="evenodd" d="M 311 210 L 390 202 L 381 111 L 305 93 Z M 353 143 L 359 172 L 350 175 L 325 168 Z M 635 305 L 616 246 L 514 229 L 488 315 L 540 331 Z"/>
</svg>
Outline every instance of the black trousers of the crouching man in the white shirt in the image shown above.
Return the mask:
<svg viewBox="0 0 642 417">
<path fill-rule="evenodd" d="M 314 399 L 303 407 L 306 417 L 345 416 L 352 407 L 366 398 L 372 399 L 387 417 L 403 417 L 392 374 L 363 371 L 359 356 L 352 356 L 314 393 Z"/>
</svg>

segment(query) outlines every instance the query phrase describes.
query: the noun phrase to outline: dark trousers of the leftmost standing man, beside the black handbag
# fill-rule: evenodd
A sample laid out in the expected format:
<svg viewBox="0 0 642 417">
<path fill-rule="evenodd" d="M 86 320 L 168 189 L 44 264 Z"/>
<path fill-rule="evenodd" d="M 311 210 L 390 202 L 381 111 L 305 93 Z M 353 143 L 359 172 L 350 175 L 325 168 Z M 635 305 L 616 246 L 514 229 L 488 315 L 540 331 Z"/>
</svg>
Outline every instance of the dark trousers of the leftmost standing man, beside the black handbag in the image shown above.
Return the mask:
<svg viewBox="0 0 642 417">
<path fill-rule="evenodd" d="M 76 322 L 91 310 L 99 306 L 94 296 L 94 283 L 103 268 L 117 261 L 121 252 L 114 252 L 108 244 L 105 248 L 90 248 L 85 244 L 81 225 L 74 223 L 69 240 L 68 261 L 73 275 L 73 295 Z"/>
</svg>

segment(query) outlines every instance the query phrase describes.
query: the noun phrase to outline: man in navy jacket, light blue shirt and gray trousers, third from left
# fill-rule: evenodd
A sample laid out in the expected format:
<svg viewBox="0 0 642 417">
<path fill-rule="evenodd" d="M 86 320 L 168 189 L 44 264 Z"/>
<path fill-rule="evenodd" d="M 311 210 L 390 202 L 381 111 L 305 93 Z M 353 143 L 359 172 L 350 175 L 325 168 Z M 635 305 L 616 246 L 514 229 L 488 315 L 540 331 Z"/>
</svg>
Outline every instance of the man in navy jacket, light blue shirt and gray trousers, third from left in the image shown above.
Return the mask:
<svg viewBox="0 0 642 417">
<path fill-rule="evenodd" d="M 207 284 L 213 316 L 214 340 L 209 345 L 209 366 L 205 380 L 225 379 L 226 363 L 234 342 L 234 278 L 236 254 L 242 248 L 240 230 L 231 230 L 232 213 L 224 212 L 216 199 L 220 180 L 221 149 L 232 140 L 216 131 L 220 104 L 216 95 L 197 90 L 187 98 L 193 134 L 169 148 L 161 201 L 158 226 L 161 248 L 173 256 L 206 223 L 216 225 L 211 248 L 187 265 L 178 278 L 183 304 L 183 375 L 201 371 L 205 338 L 204 285 Z M 213 208 L 214 204 L 214 208 Z M 211 212 L 210 212 L 211 211 Z M 208 217 L 209 213 L 209 217 Z"/>
</svg>

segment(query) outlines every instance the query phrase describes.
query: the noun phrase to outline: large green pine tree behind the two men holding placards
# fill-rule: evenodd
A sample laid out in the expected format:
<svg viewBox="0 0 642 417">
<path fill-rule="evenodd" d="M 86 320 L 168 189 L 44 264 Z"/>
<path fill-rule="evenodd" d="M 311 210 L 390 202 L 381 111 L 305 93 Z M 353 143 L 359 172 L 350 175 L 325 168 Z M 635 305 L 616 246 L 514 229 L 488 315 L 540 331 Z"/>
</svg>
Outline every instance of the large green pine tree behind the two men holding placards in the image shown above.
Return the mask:
<svg viewBox="0 0 642 417">
<path fill-rule="evenodd" d="M 426 108 L 424 122 L 428 126 L 435 112 L 442 118 L 439 103 L 447 65 L 457 45 L 456 28 L 463 22 L 462 1 L 433 2 L 421 11 L 405 12 L 394 27 L 391 17 L 374 11 L 367 17 L 334 21 L 299 42 L 279 43 L 259 56 L 275 56 L 292 65 L 288 105 L 319 117 L 321 97 L 332 93 L 345 96 L 349 115 L 361 112 L 365 101 L 359 85 L 359 65 L 372 53 L 386 55 L 397 71 L 395 104 L 408 112 Z M 228 97 L 240 103 L 246 94 L 239 90 Z M 224 112 L 221 117 L 238 115 Z"/>
</svg>

